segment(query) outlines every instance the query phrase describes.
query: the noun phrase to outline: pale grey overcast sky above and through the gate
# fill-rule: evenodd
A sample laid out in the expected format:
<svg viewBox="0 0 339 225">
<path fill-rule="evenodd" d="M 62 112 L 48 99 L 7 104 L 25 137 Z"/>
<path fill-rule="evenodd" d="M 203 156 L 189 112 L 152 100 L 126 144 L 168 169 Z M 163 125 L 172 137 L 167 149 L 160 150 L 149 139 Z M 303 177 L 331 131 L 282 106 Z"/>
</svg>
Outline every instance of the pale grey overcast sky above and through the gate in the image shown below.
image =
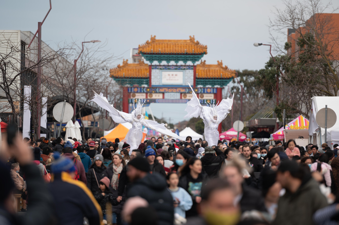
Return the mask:
<svg viewBox="0 0 339 225">
<path fill-rule="evenodd" d="M 338 7 L 339 1 L 333 5 Z M 281 0 L 52 0 L 52 10 L 42 26 L 42 40 L 56 48 L 57 43 L 72 39 L 80 43 L 87 35 L 86 41 L 107 41 L 107 50 L 128 59 L 129 50 L 151 35 L 157 39 L 194 35 L 207 45 L 206 63 L 222 60 L 231 69 L 259 70 L 270 55 L 268 47 L 254 47 L 253 43 L 270 42 L 267 25 L 274 6 L 282 7 Z M 0 29 L 35 33 L 48 8 L 48 0 L 2 1 Z M 163 111 L 173 122 L 185 115 L 183 104 L 151 107 L 157 117 Z"/>
</svg>

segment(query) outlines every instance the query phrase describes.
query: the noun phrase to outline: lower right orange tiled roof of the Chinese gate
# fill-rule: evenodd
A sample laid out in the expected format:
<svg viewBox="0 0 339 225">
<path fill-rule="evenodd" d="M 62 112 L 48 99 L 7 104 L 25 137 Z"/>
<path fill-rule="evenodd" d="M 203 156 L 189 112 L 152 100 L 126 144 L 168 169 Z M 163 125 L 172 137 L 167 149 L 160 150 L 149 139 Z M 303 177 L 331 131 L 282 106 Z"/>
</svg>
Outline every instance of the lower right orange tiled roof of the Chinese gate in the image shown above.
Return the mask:
<svg viewBox="0 0 339 225">
<path fill-rule="evenodd" d="M 218 64 L 206 64 L 206 60 L 197 64 L 197 78 L 231 78 L 236 76 L 234 70 L 222 65 L 222 60 Z"/>
</svg>

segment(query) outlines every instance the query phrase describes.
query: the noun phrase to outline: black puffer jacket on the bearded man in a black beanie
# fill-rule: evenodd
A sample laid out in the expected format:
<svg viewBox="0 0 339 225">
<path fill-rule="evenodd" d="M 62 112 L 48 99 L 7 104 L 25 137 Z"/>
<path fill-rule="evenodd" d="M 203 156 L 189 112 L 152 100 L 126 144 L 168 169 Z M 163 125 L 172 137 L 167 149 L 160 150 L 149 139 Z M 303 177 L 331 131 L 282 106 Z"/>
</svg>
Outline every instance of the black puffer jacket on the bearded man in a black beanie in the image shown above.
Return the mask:
<svg viewBox="0 0 339 225">
<path fill-rule="evenodd" d="M 159 225 L 173 225 L 173 197 L 167 190 L 167 183 L 158 173 L 147 174 L 135 181 L 127 192 L 127 198 L 140 196 L 157 211 Z"/>
</svg>

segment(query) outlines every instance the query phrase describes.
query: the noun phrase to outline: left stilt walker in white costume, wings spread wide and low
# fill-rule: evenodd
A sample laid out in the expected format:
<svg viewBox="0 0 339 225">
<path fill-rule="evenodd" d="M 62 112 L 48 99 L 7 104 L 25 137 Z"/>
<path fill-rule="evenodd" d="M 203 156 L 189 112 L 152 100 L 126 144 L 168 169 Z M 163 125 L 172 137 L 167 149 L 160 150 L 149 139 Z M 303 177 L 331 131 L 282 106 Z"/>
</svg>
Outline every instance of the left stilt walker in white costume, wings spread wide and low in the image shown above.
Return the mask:
<svg viewBox="0 0 339 225">
<path fill-rule="evenodd" d="M 172 131 L 165 128 L 165 125 L 163 123 L 159 124 L 156 121 L 144 119 L 142 116 L 142 105 L 144 104 L 143 99 L 137 100 L 137 106 L 134 106 L 133 102 L 133 108 L 134 110 L 132 113 L 125 113 L 120 112 L 117 109 L 113 107 L 113 105 L 110 105 L 108 103 L 108 100 L 106 97 L 103 96 L 102 93 L 97 94 L 94 92 L 94 98 L 91 100 L 98 104 L 101 108 L 107 110 L 109 112 L 109 116 L 112 117 L 114 122 L 116 123 L 125 123 L 130 122 L 132 123 L 132 128 L 129 129 L 129 131 L 126 134 L 126 137 L 124 138 L 126 142 L 131 145 L 131 150 L 129 150 L 129 154 L 132 154 L 132 151 L 134 149 L 137 149 L 139 147 L 139 144 L 142 140 L 142 126 L 147 127 L 151 130 L 157 131 L 159 133 L 174 137 L 175 139 L 180 139 L 178 135 L 173 133 Z"/>
</svg>

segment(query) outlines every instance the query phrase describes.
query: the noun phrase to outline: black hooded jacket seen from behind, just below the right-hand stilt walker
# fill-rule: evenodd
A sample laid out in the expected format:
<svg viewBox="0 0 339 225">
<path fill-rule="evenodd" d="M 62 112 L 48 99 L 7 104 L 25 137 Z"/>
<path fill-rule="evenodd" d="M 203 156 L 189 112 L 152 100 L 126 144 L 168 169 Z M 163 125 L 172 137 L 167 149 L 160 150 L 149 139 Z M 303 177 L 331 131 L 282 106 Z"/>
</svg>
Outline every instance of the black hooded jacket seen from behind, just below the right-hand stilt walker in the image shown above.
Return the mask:
<svg viewBox="0 0 339 225">
<path fill-rule="evenodd" d="M 218 176 L 221 165 L 225 160 L 224 153 L 219 148 L 215 148 L 214 150 L 217 156 L 212 153 L 207 153 L 201 158 L 203 170 L 209 178 Z"/>
</svg>

